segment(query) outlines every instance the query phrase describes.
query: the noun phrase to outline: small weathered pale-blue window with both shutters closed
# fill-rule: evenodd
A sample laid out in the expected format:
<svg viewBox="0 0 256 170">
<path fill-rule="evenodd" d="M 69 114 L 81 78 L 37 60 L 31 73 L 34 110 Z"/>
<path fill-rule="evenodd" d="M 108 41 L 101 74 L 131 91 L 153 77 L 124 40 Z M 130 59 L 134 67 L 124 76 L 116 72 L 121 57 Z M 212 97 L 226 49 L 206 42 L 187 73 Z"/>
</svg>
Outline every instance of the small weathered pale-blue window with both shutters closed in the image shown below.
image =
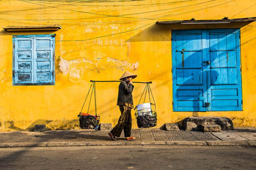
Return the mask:
<svg viewBox="0 0 256 170">
<path fill-rule="evenodd" d="M 13 84 L 54 84 L 53 34 L 16 35 L 13 37 Z"/>
</svg>

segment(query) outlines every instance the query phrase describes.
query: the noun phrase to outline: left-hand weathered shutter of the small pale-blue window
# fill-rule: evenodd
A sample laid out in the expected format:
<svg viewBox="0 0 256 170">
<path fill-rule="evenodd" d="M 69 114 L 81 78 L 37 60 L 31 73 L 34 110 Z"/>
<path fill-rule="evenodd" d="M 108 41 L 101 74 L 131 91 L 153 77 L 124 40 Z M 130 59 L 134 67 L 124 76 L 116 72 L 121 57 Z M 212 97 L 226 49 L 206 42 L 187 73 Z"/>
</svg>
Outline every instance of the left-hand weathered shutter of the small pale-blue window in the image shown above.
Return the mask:
<svg viewBox="0 0 256 170">
<path fill-rule="evenodd" d="M 33 83 L 33 39 L 14 37 L 13 83 Z"/>
</svg>

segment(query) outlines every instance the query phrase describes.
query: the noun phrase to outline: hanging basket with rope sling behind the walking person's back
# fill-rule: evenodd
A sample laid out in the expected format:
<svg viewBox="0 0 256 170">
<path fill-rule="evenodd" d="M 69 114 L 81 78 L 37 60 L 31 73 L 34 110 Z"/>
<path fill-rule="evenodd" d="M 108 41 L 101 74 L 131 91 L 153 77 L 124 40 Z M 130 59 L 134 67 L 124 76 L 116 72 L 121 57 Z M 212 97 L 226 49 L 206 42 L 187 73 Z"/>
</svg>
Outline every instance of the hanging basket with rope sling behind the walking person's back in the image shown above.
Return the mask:
<svg viewBox="0 0 256 170">
<path fill-rule="evenodd" d="M 90 93 L 91 91 L 91 93 Z M 88 97 L 90 93 L 90 100 L 89 100 L 89 105 L 88 105 L 88 109 L 87 109 L 87 113 L 83 113 L 83 107 L 84 104 L 86 102 L 86 99 Z M 92 94 L 94 95 L 94 107 L 95 107 L 95 115 L 89 114 L 89 108 L 90 108 L 90 104 L 91 104 L 91 98 L 92 98 Z M 85 97 L 83 106 L 81 108 L 80 113 L 78 114 L 79 117 L 79 126 L 80 128 L 83 129 L 97 129 L 98 125 L 99 125 L 99 116 L 97 115 L 97 104 L 96 104 L 96 84 L 95 82 L 91 83 L 91 86 L 89 88 L 89 91 Z"/>
</svg>

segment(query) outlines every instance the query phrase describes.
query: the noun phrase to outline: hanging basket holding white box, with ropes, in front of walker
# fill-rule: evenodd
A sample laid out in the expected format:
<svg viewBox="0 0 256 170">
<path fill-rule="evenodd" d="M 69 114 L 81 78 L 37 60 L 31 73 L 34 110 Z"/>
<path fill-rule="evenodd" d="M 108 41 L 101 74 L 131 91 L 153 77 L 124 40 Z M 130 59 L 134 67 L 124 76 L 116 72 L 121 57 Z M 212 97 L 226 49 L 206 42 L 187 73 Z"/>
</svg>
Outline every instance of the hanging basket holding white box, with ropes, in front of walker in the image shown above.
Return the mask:
<svg viewBox="0 0 256 170">
<path fill-rule="evenodd" d="M 149 94 L 149 103 L 145 103 L 147 92 Z M 149 107 L 144 107 L 144 109 L 138 110 L 138 107 L 140 105 L 143 105 L 143 104 L 140 104 L 143 95 L 145 95 L 144 96 L 144 101 L 143 101 L 144 105 L 145 104 L 150 105 L 150 108 Z M 152 96 L 153 101 L 154 101 L 153 103 L 151 102 L 151 96 Z M 152 111 L 152 105 L 154 105 L 154 107 L 155 107 L 154 111 Z M 153 96 L 153 93 L 152 93 L 152 90 L 151 90 L 151 87 L 150 87 L 149 83 L 146 84 L 146 86 L 143 90 L 142 96 L 139 100 L 139 103 L 135 107 L 135 117 L 137 119 L 137 125 L 138 125 L 139 128 L 154 127 L 154 126 L 157 125 L 156 102 L 155 102 L 155 98 Z"/>
</svg>

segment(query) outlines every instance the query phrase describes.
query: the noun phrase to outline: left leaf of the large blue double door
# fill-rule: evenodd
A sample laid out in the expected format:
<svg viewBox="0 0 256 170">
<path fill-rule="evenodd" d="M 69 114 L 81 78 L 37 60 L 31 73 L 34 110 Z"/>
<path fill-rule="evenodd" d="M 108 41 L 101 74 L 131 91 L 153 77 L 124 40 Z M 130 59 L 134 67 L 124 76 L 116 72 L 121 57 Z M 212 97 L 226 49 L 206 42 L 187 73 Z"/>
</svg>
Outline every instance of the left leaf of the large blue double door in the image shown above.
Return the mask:
<svg viewBox="0 0 256 170">
<path fill-rule="evenodd" d="M 202 65 L 202 32 L 176 31 L 173 36 L 174 110 L 205 111 L 203 80 L 206 74 Z M 205 78 L 203 78 L 205 76 Z"/>
</svg>

